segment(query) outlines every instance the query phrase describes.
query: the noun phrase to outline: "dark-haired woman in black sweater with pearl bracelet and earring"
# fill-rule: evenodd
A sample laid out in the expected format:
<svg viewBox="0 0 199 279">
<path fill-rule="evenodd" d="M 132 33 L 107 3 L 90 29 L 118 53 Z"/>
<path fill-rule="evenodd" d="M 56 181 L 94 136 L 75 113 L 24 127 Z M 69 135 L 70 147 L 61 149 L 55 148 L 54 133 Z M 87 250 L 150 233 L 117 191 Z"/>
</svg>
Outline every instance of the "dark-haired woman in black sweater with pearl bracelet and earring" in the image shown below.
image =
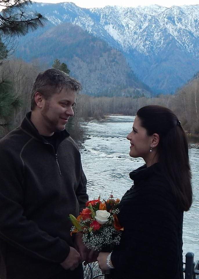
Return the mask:
<svg viewBox="0 0 199 279">
<path fill-rule="evenodd" d="M 188 143 L 176 115 L 158 105 L 137 112 L 127 136 L 133 158 L 146 164 L 130 173 L 134 185 L 120 202 L 124 227 L 112 253 L 100 253 L 114 279 L 182 279 L 183 212 L 192 203 Z"/>
</svg>

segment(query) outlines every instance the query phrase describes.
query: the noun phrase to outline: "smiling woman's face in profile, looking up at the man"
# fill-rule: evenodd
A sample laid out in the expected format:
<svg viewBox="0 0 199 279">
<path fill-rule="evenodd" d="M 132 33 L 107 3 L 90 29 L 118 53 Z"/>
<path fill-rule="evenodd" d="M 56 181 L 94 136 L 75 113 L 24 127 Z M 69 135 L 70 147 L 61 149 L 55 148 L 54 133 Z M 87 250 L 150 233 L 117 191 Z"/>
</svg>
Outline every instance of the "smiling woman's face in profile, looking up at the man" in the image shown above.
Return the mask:
<svg viewBox="0 0 199 279">
<path fill-rule="evenodd" d="M 146 162 L 151 155 L 153 136 L 147 135 L 146 129 L 141 126 L 138 116 L 135 117 L 132 132 L 126 138 L 131 143 L 129 155 L 133 158 L 142 157 Z"/>
</svg>

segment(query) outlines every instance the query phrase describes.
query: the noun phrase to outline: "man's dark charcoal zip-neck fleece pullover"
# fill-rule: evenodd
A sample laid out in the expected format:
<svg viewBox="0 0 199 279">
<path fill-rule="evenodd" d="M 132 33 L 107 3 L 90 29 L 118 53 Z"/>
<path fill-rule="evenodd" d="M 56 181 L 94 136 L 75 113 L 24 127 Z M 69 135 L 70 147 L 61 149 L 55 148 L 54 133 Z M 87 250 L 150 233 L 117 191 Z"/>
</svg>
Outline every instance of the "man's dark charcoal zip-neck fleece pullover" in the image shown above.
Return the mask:
<svg viewBox="0 0 199 279">
<path fill-rule="evenodd" d="M 0 141 L 0 250 L 8 279 L 53 276 L 74 246 L 68 217 L 85 207 L 86 177 L 77 144 L 66 130 L 59 137 L 56 154 L 28 114 Z"/>
</svg>

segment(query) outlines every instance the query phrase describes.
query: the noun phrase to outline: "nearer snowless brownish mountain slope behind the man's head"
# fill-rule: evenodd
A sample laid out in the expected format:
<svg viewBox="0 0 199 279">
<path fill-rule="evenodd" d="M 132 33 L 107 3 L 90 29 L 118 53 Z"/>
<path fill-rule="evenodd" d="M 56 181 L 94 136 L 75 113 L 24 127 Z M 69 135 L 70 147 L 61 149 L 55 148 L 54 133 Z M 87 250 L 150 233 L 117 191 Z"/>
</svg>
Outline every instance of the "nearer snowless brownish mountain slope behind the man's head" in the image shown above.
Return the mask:
<svg viewBox="0 0 199 279">
<path fill-rule="evenodd" d="M 58 58 L 79 79 L 84 94 L 93 96 L 151 96 L 124 55 L 106 42 L 71 23 L 48 24 L 18 42 L 16 55 L 26 62 L 52 67 Z"/>
</svg>

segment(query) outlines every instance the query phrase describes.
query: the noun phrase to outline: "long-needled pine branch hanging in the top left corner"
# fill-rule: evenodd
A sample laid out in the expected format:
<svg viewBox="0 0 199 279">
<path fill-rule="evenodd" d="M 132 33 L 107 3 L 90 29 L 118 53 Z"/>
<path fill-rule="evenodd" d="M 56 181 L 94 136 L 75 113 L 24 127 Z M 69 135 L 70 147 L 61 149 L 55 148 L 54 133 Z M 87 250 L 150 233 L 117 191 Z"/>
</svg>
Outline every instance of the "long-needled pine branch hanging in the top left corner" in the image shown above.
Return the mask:
<svg viewBox="0 0 199 279">
<path fill-rule="evenodd" d="M 46 18 L 26 9 L 30 0 L 0 0 L 0 36 L 25 35 L 29 30 L 44 26 Z"/>
</svg>

